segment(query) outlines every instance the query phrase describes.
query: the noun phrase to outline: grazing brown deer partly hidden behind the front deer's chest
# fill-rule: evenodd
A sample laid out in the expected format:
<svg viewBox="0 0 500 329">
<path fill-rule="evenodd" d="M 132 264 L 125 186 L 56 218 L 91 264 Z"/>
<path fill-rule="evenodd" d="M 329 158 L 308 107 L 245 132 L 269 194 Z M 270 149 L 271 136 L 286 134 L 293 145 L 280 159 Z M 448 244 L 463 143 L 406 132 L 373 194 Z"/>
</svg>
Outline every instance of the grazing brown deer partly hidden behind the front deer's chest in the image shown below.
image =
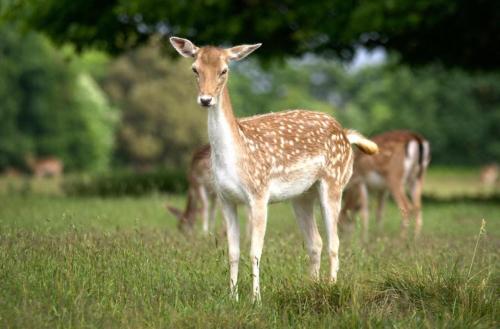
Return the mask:
<svg viewBox="0 0 500 329">
<path fill-rule="evenodd" d="M 201 203 L 203 232 L 208 233 L 215 225 L 216 199 L 211 171 L 210 145 L 198 149 L 191 159 L 188 170 L 188 199 L 184 211 L 167 206 L 167 209 L 179 219 L 179 229 L 191 231 L 198 212 L 198 202 Z"/>
</svg>

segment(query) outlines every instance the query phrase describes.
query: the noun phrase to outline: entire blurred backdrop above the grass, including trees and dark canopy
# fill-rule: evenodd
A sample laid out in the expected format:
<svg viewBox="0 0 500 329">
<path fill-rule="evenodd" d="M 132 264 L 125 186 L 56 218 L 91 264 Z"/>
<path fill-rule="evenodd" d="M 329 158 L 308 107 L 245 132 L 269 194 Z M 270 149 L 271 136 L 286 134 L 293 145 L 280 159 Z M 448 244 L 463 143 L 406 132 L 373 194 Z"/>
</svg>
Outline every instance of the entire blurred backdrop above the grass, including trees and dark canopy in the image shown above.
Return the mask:
<svg viewBox="0 0 500 329">
<path fill-rule="evenodd" d="M 1 0 L 0 186 L 185 191 L 206 113 L 177 35 L 263 43 L 232 67 L 238 116 L 305 108 L 366 135 L 411 129 L 431 142 L 428 196 L 491 196 L 499 24 L 495 0 Z"/>
</svg>

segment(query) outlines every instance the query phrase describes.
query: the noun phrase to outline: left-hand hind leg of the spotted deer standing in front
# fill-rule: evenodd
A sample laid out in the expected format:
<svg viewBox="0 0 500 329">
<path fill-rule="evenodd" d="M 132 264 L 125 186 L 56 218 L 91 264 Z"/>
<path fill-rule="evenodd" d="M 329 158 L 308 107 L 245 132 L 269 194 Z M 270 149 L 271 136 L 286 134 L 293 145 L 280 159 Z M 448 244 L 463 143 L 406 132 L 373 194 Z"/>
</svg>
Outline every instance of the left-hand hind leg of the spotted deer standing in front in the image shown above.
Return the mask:
<svg viewBox="0 0 500 329">
<path fill-rule="evenodd" d="M 310 275 L 314 280 L 319 279 L 321 249 L 323 248 L 323 241 L 314 218 L 314 201 L 316 197 L 316 193 L 309 192 L 292 200 L 295 217 L 306 240 L 310 261 Z"/>
</svg>

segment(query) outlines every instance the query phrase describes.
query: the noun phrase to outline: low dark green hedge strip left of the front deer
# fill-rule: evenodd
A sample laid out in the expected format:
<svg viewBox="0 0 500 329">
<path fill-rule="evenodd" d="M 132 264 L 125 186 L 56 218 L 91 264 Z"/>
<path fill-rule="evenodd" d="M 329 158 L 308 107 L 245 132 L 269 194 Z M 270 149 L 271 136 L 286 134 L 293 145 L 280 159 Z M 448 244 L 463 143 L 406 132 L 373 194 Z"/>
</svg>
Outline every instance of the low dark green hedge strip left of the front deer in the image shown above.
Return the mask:
<svg viewBox="0 0 500 329">
<path fill-rule="evenodd" d="M 153 192 L 179 193 L 187 190 L 183 170 L 157 170 L 137 173 L 113 171 L 94 176 L 67 178 L 63 190 L 68 195 L 81 196 L 137 196 Z"/>
</svg>

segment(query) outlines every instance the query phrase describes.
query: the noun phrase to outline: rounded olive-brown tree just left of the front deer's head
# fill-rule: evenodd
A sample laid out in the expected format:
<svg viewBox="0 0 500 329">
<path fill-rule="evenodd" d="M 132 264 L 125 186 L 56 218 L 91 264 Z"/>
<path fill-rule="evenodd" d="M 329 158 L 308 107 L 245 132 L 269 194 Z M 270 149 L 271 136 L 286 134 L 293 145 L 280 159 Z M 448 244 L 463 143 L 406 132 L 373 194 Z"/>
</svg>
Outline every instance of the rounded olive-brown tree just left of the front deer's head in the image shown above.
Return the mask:
<svg viewBox="0 0 500 329">
<path fill-rule="evenodd" d="M 103 87 L 121 111 L 116 156 L 148 168 L 185 164 L 206 142 L 206 113 L 196 104 L 187 61 L 172 61 L 154 45 L 112 63 Z"/>
</svg>

